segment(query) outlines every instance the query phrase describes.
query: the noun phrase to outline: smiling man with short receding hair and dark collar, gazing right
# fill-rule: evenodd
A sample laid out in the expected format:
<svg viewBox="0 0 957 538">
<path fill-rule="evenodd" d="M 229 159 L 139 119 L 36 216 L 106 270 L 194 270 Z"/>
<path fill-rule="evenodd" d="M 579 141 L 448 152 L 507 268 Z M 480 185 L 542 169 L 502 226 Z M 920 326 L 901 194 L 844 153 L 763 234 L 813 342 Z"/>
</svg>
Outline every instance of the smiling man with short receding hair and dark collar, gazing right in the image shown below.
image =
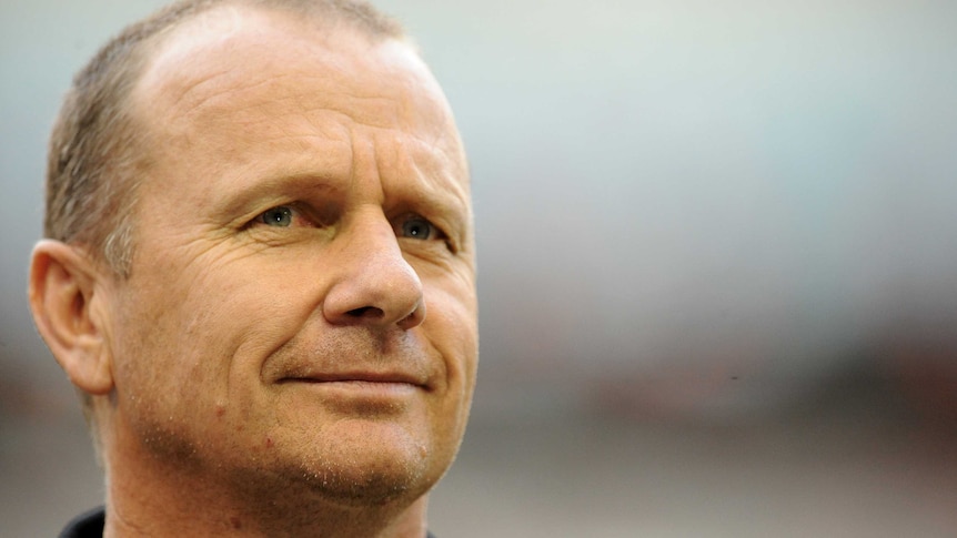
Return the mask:
<svg viewBox="0 0 957 538">
<path fill-rule="evenodd" d="M 441 89 L 346 0 L 175 4 L 78 74 L 37 326 L 105 511 L 66 536 L 426 535 L 477 362 L 467 166 Z"/>
</svg>

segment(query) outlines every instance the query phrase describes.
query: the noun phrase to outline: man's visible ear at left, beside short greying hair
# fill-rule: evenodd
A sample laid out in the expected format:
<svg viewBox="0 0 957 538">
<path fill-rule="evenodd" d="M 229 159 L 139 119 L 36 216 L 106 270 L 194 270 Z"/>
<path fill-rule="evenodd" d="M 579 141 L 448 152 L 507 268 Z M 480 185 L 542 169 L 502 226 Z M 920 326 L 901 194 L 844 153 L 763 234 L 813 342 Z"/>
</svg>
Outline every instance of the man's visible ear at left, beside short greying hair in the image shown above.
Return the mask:
<svg viewBox="0 0 957 538">
<path fill-rule="evenodd" d="M 99 296 L 108 277 L 80 248 L 52 240 L 33 247 L 33 322 L 73 385 L 92 395 L 113 388 L 104 297 Z"/>
</svg>

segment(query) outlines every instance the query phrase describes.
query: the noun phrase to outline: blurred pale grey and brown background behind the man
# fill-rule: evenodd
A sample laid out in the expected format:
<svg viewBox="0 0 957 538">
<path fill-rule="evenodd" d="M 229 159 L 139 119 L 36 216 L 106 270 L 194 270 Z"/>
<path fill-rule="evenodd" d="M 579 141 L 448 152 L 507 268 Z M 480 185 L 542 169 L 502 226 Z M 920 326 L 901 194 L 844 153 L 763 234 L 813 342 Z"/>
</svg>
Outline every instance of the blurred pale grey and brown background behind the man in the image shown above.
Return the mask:
<svg viewBox="0 0 957 538">
<path fill-rule="evenodd" d="M 102 499 L 26 275 L 60 98 L 161 3 L 0 3 L 0 536 Z M 375 3 L 473 171 L 437 536 L 957 536 L 957 3 Z"/>
</svg>

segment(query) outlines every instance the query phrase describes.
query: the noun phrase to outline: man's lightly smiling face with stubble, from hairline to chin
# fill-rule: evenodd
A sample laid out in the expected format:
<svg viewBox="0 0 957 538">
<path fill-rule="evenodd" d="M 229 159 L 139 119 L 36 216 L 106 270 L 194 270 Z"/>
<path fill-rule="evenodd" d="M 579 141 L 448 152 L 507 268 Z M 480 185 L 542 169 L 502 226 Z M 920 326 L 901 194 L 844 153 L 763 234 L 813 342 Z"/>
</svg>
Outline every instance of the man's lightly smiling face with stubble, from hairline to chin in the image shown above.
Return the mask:
<svg viewBox="0 0 957 538">
<path fill-rule="evenodd" d="M 421 494 L 476 367 L 466 164 L 404 44 L 211 13 L 133 93 L 151 149 L 111 305 L 115 428 L 158 460 Z"/>
</svg>

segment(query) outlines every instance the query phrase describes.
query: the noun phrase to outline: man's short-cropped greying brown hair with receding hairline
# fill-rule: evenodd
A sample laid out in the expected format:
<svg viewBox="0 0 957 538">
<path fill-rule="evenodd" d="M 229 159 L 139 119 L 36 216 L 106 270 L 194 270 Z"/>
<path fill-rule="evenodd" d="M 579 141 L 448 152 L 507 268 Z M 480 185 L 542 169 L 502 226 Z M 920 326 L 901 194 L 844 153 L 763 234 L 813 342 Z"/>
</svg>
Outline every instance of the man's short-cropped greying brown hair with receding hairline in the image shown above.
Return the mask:
<svg viewBox="0 0 957 538">
<path fill-rule="evenodd" d="M 162 34 L 220 6 L 289 11 L 375 40 L 404 38 L 399 23 L 361 0 L 184 0 L 108 42 L 74 77 L 53 128 L 43 233 L 81 245 L 117 276 L 129 277 L 132 268 L 133 207 L 150 160 L 130 93 Z"/>
</svg>

